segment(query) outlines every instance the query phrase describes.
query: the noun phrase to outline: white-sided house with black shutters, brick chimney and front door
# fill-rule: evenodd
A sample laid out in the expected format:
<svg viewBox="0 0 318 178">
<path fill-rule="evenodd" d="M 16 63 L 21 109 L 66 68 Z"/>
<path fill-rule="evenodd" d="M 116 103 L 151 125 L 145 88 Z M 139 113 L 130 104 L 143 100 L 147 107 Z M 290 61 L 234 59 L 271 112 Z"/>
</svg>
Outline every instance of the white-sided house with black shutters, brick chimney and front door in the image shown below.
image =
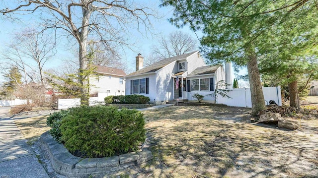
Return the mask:
<svg viewBox="0 0 318 178">
<path fill-rule="evenodd" d="M 145 95 L 156 104 L 196 100 L 192 97 L 196 93 L 204 95 L 205 102 L 213 103 L 214 98 L 206 95 L 213 93 L 216 83 L 226 78 L 222 66 L 207 66 L 198 51 L 162 59 L 147 67 L 143 67 L 143 60 L 138 54 L 136 71 L 125 77 L 126 95 Z"/>
</svg>

